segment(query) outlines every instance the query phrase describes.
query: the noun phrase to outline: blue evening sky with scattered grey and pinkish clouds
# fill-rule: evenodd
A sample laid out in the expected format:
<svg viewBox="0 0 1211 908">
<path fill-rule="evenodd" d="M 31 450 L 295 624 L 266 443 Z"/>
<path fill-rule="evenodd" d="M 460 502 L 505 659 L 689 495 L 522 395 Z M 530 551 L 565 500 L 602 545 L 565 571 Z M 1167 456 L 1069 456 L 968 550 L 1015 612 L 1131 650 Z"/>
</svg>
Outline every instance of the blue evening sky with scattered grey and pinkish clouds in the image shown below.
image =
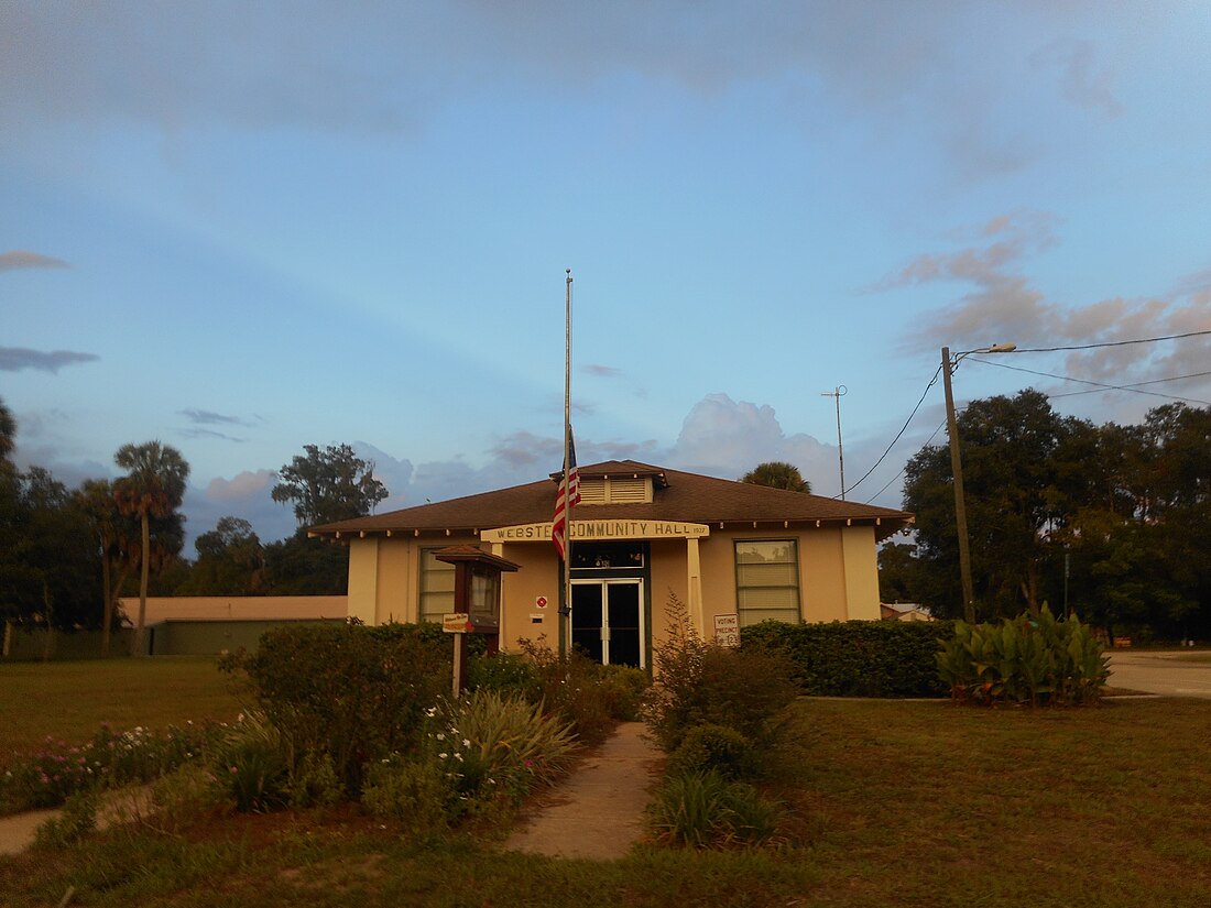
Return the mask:
<svg viewBox="0 0 1211 908">
<path fill-rule="evenodd" d="M 839 403 L 846 498 L 899 507 L 943 346 L 1018 346 L 959 406 L 1206 406 L 1209 46 L 1201 0 L 5 0 L 15 458 L 171 444 L 190 539 L 292 533 L 305 444 L 379 512 L 533 482 L 566 269 L 581 464 L 838 495 Z"/>
</svg>

